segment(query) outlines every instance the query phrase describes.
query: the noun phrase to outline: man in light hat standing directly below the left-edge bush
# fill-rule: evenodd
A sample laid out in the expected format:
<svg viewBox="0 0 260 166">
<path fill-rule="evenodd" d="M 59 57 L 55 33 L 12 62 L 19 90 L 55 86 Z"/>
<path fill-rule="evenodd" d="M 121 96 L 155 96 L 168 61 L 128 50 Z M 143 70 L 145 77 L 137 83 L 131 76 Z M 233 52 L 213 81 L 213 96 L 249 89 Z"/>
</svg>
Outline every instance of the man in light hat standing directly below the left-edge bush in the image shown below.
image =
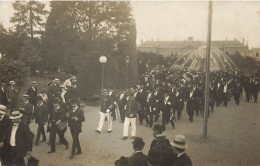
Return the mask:
<svg viewBox="0 0 260 166">
<path fill-rule="evenodd" d="M 11 110 L 11 112 L 13 112 L 16 108 L 19 90 L 18 90 L 17 86 L 15 86 L 14 81 L 10 81 L 9 84 L 10 84 L 10 86 L 7 88 L 7 91 L 6 91 L 6 98 L 9 103 L 10 110 Z"/>
</svg>

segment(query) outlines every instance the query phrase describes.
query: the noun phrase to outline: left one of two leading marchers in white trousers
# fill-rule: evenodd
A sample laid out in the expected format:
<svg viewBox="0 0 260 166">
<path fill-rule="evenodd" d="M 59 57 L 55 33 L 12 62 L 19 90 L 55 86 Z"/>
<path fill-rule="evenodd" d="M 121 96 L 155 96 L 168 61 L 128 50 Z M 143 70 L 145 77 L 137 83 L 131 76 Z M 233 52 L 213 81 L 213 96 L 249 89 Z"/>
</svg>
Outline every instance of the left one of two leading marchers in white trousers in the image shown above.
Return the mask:
<svg viewBox="0 0 260 166">
<path fill-rule="evenodd" d="M 108 122 L 108 131 L 107 133 L 112 132 L 112 119 L 111 119 L 111 110 L 113 108 L 113 99 L 109 94 L 105 94 L 106 96 L 102 99 L 101 108 L 99 111 L 100 119 L 98 123 L 98 128 L 95 130 L 97 133 L 101 133 L 102 127 L 104 125 L 105 118 L 107 118 Z"/>
</svg>

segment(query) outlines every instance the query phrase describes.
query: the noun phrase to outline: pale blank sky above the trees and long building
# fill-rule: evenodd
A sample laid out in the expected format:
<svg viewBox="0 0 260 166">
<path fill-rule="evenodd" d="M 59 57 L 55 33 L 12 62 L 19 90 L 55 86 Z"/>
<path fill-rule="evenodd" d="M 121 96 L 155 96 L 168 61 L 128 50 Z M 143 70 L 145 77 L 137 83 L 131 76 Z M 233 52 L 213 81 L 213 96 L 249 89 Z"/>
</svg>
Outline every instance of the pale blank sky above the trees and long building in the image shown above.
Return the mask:
<svg viewBox="0 0 260 166">
<path fill-rule="evenodd" d="M 0 22 L 10 27 L 12 2 L 0 2 Z M 137 45 L 141 40 L 207 39 L 206 1 L 131 1 Z M 260 1 L 213 1 L 212 40 L 237 39 L 260 47 Z"/>
</svg>

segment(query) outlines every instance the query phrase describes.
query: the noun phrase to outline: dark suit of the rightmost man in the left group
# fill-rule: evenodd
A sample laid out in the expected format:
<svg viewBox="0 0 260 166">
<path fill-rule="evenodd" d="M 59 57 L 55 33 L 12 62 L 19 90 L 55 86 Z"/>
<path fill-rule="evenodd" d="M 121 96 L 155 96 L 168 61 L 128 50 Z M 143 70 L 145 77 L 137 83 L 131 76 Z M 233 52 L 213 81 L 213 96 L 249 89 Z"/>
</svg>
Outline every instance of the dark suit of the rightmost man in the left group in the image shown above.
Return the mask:
<svg viewBox="0 0 260 166">
<path fill-rule="evenodd" d="M 77 119 L 73 119 L 76 117 Z M 79 133 L 82 131 L 82 122 L 85 121 L 84 113 L 81 109 L 77 108 L 75 111 L 70 109 L 69 117 L 68 117 L 68 124 L 70 127 L 71 136 L 73 139 L 71 154 L 75 154 L 75 150 L 77 149 L 78 153 L 81 153 L 81 147 L 79 143 Z"/>
</svg>

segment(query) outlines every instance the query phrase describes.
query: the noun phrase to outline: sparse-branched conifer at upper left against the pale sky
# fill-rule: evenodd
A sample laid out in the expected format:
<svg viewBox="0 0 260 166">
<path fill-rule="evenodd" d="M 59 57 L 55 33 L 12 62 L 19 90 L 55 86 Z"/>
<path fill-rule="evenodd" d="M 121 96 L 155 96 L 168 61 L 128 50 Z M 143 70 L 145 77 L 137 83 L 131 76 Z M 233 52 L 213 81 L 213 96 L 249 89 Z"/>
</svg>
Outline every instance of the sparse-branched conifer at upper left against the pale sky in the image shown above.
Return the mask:
<svg viewBox="0 0 260 166">
<path fill-rule="evenodd" d="M 45 10 L 45 4 L 38 1 L 16 1 L 13 3 L 15 10 L 11 17 L 11 23 L 14 23 L 18 36 L 29 35 L 32 39 L 35 34 L 41 34 L 44 17 L 48 11 Z"/>
</svg>

